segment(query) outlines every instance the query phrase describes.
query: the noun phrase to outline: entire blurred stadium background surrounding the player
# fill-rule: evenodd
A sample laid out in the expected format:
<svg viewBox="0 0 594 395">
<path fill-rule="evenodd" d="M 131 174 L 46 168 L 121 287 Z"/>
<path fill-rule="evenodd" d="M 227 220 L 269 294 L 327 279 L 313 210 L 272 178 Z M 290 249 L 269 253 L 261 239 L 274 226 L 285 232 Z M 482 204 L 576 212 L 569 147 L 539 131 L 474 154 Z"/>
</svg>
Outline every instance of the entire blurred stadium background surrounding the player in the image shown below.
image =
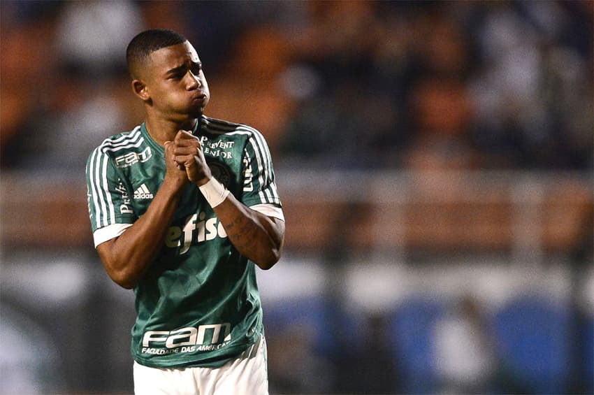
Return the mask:
<svg viewBox="0 0 594 395">
<path fill-rule="evenodd" d="M 124 66 L 187 36 L 207 115 L 268 139 L 272 394 L 593 393 L 593 2 L 1 1 L 3 394 L 132 392 L 133 294 L 85 161 Z"/>
</svg>

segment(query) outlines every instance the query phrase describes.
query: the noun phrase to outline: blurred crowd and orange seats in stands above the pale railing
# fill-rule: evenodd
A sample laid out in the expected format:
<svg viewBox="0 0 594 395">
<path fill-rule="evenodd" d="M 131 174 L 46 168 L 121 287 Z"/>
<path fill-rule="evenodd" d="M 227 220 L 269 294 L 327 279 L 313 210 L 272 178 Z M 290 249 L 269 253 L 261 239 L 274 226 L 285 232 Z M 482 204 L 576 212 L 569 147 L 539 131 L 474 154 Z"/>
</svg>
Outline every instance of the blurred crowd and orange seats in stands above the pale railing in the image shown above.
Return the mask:
<svg viewBox="0 0 594 395">
<path fill-rule="evenodd" d="M 204 63 L 207 115 L 275 162 L 588 169 L 591 1 L 3 1 L 3 168 L 80 172 L 142 120 L 125 69 L 147 27 Z"/>
</svg>

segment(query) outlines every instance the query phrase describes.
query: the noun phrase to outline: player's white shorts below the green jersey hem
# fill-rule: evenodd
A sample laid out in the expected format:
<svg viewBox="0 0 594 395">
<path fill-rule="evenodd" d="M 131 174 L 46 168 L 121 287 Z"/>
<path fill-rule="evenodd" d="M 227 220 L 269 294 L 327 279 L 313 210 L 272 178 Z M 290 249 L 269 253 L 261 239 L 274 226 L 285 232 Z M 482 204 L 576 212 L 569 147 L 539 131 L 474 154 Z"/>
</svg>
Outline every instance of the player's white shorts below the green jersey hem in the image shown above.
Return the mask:
<svg viewBox="0 0 594 395">
<path fill-rule="evenodd" d="M 134 362 L 134 394 L 268 395 L 266 340 L 220 368 L 150 368 Z"/>
</svg>

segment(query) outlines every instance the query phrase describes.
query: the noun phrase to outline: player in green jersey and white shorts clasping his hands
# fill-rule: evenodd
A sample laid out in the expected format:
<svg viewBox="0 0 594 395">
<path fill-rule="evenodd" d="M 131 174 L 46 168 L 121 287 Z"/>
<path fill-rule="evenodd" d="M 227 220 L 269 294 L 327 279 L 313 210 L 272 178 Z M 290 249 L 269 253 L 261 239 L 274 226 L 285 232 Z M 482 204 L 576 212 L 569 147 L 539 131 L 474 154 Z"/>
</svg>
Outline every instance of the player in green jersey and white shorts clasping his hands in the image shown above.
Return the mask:
<svg viewBox="0 0 594 395">
<path fill-rule="evenodd" d="M 266 141 L 203 115 L 202 64 L 175 31 L 143 31 L 126 58 L 145 122 L 92 152 L 87 195 L 103 266 L 136 294 L 135 392 L 267 394 L 254 265 L 280 259 L 284 217 Z"/>
</svg>

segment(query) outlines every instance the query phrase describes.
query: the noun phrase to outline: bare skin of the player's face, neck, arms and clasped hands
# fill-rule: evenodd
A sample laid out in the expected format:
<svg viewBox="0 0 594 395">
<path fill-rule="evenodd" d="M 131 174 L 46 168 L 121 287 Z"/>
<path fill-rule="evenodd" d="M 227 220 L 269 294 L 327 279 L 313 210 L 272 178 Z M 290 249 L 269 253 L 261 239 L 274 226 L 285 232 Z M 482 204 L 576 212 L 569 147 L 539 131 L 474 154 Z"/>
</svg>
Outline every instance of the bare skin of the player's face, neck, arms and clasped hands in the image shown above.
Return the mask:
<svg viewBox="0 0 594 395">
<path fill-rule="evenodd" d="M 143 100 L 150 136 L 165 149 L 166 174 L 146 213 L 123 234 L 97 246 L 110 278 L 131 289 L 164 243 L 173 213 L 188 182 L 198 187 L 212 178 L 202 146 L 191 130 L 210 99 L 196 50 L 189 42 L 152 52 L 133 66 L 133 92 Z M 267 270 L 280 259 L 284 221 L 268 217 L 233 194 L 214 208 L 233 246 Z"/>
</svg>

